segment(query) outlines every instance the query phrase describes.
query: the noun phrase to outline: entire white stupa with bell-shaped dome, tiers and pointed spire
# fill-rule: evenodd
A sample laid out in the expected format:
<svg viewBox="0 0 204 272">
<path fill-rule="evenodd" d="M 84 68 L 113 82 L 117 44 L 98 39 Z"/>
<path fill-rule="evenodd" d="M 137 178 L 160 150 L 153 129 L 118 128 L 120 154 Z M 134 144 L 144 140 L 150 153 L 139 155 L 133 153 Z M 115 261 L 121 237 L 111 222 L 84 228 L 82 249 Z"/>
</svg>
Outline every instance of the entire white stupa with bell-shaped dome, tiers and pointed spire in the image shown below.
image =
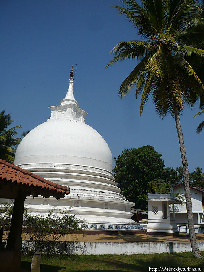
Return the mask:
<svg viewBox="0 0 204 272">
<path fill-rule="evenodd" d="M 69 186 L 70 194 L 58 201 L 28 197 L 25 203 L 35 214 L 71 207 L 71 213 L 88 224 L 133 224 L 134 203 L 120 194 L 114 181 L 108 144 L 84 123 L 87 112 L 74 98 L 73 81 L 72 67 L 65 98 L 60 106 L 49 107 L 50 119 L 23 138 L 14 162 L 47 180 Z"/>
</svg>

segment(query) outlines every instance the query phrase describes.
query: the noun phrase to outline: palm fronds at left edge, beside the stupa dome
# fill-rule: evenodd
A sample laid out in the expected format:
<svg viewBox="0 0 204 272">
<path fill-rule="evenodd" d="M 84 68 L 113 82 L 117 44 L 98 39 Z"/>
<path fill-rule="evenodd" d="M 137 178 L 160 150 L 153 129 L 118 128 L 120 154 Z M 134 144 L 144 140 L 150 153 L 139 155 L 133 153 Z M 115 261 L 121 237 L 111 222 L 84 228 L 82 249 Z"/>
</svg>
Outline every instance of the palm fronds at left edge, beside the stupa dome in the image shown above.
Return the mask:
<svg viewBox="0 0 204 272">
<path fill-rule="evenodd" d="M 0 112 L 0 158 L 13 163 L 15 151 L 21 139 L 15 138 L 16 129 L 21 126 L 9 128 L 15 122 L 11 120 L 10 114 L 5 115 L 5 110 Z"/>
</svg>

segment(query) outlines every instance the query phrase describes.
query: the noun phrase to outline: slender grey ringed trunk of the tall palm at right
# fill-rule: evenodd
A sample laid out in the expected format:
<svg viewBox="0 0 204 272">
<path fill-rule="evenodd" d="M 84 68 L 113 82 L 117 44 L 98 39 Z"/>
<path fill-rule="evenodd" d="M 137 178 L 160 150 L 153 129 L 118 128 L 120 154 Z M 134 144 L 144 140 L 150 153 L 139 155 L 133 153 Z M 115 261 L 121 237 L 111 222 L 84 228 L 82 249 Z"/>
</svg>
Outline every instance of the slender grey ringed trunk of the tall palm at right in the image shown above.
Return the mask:
<svg viewBox="0 0 204 272">
<path fill-rule="evenodd" d="M 178 138 L 179 138 L 181 159 L 182 159 L 182 164 L 183 164 L 183 183 L 184 183 L 184 191 L 185 191 L 185 198 L 186 198 L 186 210 L 187 210 L 190 243 L 191 243 L 191 248 L 192 248 L 192 252 L 193 252 L 193 257 L 202 258 L 202 254 L 200 253 L 198 243 L 196 240 L 196 233 L 195 233 L 194 223 L 193 223 L 193 212 L 192 212 L 190 185 L 189 185 L 188 162 L 187 162 L 186 150 L 185 150 L 185 145 L 184 145 L 184 141 L 183 141 L 183 133 L 182 133 L 181 123 L 180 123 L 180 118 L 179 118 L 179 110 L 177 107 L 175 107 L 175 109 L 174 109 L 174 114 L 175 114 L 175 121 L 176 121 L 176 129 L 177 129 Z"/>
</svg>

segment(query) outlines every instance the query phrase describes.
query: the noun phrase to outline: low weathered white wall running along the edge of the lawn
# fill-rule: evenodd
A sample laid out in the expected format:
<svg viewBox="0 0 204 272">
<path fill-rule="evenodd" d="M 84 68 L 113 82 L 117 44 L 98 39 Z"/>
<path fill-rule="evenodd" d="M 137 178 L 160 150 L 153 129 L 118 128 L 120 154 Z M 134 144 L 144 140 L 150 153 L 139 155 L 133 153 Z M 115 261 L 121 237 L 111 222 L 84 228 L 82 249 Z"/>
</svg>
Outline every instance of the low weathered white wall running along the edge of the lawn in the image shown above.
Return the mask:
<svg viewBox="0 0 204 272">
<path fill-rule="evenodd" d="M 204 251 L 204 243 L 199 248 Z M 180 242 L 64 242 L 52 245 L 58 254 L 102 255 L 102 254 L 154 254 L 191 251 L 190 243 Z M 24 253 L 37 250 L 35 241 L 22 241 Z"/>
</svg>

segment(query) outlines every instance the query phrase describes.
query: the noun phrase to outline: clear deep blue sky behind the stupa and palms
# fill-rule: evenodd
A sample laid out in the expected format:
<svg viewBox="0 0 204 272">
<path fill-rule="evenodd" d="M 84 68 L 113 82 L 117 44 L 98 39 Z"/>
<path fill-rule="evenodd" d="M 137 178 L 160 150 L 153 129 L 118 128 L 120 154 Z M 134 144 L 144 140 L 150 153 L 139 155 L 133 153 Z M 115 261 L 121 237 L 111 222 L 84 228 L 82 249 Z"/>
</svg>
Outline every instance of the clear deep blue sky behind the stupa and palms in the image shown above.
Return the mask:
<svg viewBox="0 0 204 272">
<path fill-rule="evenodd" d="M 123 79 L 136 65 L 126 61 L 108 69 L 110 50 L 124 40 L 140 39 L 124 16 L 111 5 L 119 0 L 7 0 L 0 3 L 1 95 L 6 110 L 31 130 L 50 118 L 49 106 L 60 105 L 68 88 L 72 65 L 74 95 L 89 115 L 86 124 L 108 143 L 113 157 L 126 148 L 153 145 L 166 167 L 180 166 L 180 149 L 174 120 L 161 120 L 151 100 L 140 116 L 140 99 L 134 90 L 118 97 Z M 181 116 L 189 171 L 202 167 L 203 136 L 196 128 L 203 116 L 193 119 L 199 106 L 185 108 Z"/>
</svg>

